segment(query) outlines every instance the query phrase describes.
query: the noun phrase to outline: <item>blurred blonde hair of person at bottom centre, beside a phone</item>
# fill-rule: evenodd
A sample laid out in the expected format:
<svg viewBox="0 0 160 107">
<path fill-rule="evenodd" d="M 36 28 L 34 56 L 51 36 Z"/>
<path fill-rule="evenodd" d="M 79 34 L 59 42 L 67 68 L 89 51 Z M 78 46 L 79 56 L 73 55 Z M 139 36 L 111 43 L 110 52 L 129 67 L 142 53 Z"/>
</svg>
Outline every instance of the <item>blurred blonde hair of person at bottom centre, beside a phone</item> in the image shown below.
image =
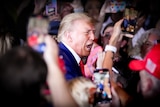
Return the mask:
<svg viewBox="0 0 160 107">
<path fill-rule="evenodd" d="M 80 107 L 92 107 L 89 104 L 89 89 L 96 88 L 96 85 L 88 78 L 77 77 L 68 81 L 71 94 Z"/>
</svg>

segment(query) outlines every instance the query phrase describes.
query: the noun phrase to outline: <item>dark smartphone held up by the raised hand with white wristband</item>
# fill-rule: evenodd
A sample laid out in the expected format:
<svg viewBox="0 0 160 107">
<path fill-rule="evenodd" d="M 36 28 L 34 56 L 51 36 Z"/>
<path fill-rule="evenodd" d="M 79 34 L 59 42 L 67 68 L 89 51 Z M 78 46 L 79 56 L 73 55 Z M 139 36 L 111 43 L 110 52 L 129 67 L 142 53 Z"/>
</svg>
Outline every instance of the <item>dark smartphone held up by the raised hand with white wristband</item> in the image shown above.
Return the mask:
<svg viewBox="0 0 160 107">
<path fill-rule="evenodd" d="M 121 30 L 123 32 L 135 34 L 137 14 L 138 12 L 134 8 L 125 8 L 124 20 L 121 25 Z"/>
</svg>

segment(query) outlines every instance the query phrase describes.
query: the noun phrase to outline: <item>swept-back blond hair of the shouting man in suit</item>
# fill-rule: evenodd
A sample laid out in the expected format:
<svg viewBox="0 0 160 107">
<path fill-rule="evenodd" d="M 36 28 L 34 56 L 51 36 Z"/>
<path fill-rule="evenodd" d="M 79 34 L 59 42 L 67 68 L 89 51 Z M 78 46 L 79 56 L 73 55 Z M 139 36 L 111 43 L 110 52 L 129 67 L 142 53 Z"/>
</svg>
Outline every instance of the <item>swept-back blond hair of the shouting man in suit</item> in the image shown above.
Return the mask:
<svg viewBox="0 0 160 107">
<path fill-rule="evenodd" d="M 85 20 L 87 22 L 93 23 L 91 17 L 89 17 L 85 13 L 70 13 L 66 15 L 60 23 L 59 30 L 58 30 L 58 41 L 62 40 L 64 33 L 68 30 L 74 29 L 73 24 L 76 20 Z"/>
</svg>

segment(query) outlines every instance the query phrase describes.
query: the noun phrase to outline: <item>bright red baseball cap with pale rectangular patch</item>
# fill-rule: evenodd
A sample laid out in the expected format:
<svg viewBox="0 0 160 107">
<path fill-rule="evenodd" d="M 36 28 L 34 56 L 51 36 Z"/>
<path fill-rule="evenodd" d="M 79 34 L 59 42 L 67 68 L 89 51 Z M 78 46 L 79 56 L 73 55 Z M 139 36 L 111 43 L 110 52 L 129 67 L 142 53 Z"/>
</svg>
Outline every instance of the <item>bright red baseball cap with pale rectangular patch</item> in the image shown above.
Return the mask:
<svg viewBox="0 0 160 107">
<path fill-rule="evenodd" d="M 132 60 L 129 68 L 133 71 L 145 70 L 160 79 L 160 44 L 156 44 L 143 60 Z"/>
</svg>

